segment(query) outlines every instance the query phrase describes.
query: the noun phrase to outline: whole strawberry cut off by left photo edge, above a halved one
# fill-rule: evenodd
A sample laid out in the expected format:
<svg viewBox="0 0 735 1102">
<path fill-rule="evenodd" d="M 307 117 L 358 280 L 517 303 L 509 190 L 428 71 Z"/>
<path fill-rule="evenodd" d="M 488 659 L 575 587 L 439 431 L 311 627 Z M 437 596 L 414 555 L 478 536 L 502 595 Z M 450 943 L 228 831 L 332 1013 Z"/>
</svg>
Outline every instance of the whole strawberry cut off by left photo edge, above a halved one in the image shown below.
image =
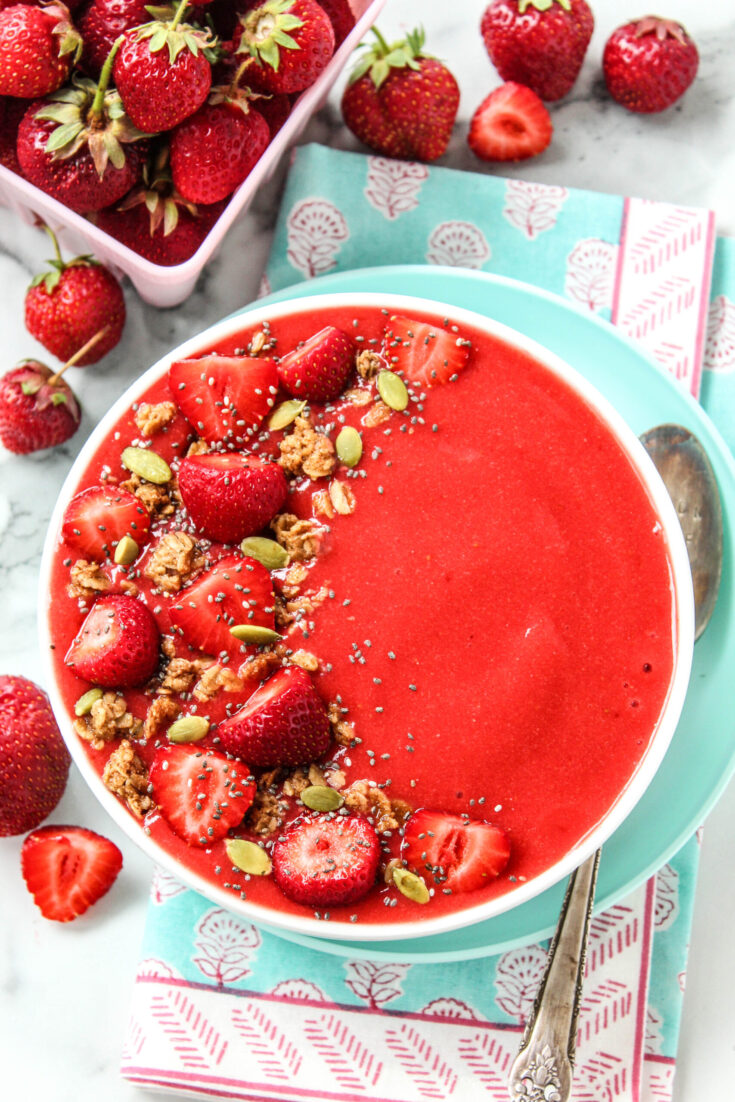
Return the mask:
<svg viewBox="0 0 735 1102">
<path fill-rule="evenodd" d="M 51 814 L 71 761 L 45 692 L 28 678 L 0 676 L 0 838 Z"/>
</svg>

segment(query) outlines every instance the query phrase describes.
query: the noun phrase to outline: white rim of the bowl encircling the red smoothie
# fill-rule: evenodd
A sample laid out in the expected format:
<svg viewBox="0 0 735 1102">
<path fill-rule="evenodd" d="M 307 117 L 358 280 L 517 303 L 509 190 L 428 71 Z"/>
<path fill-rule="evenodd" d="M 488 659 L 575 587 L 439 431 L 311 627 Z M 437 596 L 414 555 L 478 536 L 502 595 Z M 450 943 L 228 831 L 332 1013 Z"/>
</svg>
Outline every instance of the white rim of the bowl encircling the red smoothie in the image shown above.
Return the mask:
<svg viewBox="0 0 735 1102">
<path fill-rule="evenodd" d="M 63 514 L 94 453 L 104 442 L 118 418 L 130 408 L 151 383 L 164 375 L 174 360 L 202 355 L 217 342 L 234 336 L 244 328 L 256 327 L 263 321 L 277 320 L 294 314 L 324 312 L 331 306 L 334 307 L 337 305 L 387 307 L 400 310 L 403 313 L 419 311 L 440 317 L 447 316 L 455 324 L 466 324 L 484 331 L 519 348 L 541 363 L 554 376 L 565 381 L 592 408 L 617 440 L 638 474 L 644 490 L 648 494 L 651 505 L 661 521 L 669 552 L 674 649 L 672 674 L 668 693 L 648 748 L 625 788 L 620 791 L 605 817 L 555 864 L 532 879 L 519 883 L 515 888 L 504 893 L 501 896 L 465 907 L 461 910 L 441 915 L 436 918 L 421 918 L 386 923 L 349 923 L 335 920 L 325 922 L 311 915 L 305 916 L 288 911 L 277 911 L 271 907 L 252 903 L 249 899 L 239 899 L 184 865 L 177 857 L 173 856 L 152 838 L 147 835 L 142 829 L 142 823 L 134 819 L 117 797 L 102 784 L 100 775 L 87 757 L 85 747 L 74 731 L 72 717 L 66 711 L 66 705 L 56 683 L 54 665 L 51 657 L 52 640 L 48 624 L 51 603 L 50 580 Z M 462 306 L 453 306 L 435 299 L 424 299 L 392 292 L 386 294 L 375 291 L 324 292 L 307 298 L 285 299 L 277 303 L 256 305 L 252 309 L 248 309 L 245 313 L 238 312 L 214 323 L 195 336 L 187 338 L 151 365 L 123 391 L 100 419 L 83 445 L 60 489 L 44 540 L 37 593 L 41 660 L 44 683 L 47 687 L 52 707 L 66 745 L 84 780 L 117 825 L 158 865 L 182 880 L 187 887 L 199 892 L 206 898 L 225 909 L 249 921 L 260 922 L 271 928 L 273 932 L 284 929 L 298 934 L 307 934 L 320 939 L 326 938 L 328 940 L 338 939 L 342 941 L 390 941 L 396 940 L 397 937 L 401 939 L 421 938 L 451 932 L 452 930 L 484 921 L 493 918 L 495 915 L 512 909 L 533 898 L 536 895 L 541 894 L 573 872 L 574 868 L 586 860 L 586 857 L 591 856 L 614 833 L 617 827 L 629 814 L 663 759 L 683 707 L 694 646 L 692 576 L 687 544 L 675 508 L 646 449 L 610 401 L 562 357 L 552 353 L 539 342 L 527 337 L 520 331 Z"/>
</svg>

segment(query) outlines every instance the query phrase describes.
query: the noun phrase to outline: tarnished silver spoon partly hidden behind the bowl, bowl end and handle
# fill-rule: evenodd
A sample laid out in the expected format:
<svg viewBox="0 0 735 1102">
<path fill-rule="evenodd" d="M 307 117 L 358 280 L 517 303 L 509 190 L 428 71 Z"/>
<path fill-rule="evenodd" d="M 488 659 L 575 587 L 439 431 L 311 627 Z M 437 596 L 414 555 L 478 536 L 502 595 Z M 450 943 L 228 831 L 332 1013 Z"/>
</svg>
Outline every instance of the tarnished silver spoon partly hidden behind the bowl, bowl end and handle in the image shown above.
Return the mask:
<svg viewBox="0 0 735 1102">
<path fill-rule="evenodd" d="M 701 443 L 679 424 L 640 437 L 674 504 L 694 583 L 694 638 L 710 623 L 722 572 L 722 506 Z M 508 1079 L 517 1102 L 568 1102 L 599 850 L 570 877 L 545 971 Z"/>
</svg>

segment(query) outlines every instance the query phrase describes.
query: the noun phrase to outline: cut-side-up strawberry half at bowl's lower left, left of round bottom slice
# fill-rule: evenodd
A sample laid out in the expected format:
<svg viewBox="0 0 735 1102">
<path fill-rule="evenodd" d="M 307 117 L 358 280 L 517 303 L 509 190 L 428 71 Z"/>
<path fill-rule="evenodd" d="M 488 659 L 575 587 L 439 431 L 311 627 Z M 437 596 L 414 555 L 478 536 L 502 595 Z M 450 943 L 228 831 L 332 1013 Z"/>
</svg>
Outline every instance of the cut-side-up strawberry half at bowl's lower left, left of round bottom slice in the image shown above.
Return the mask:
<svg viewBox="0 0 735 1102">
<path fill-rule="evenodd" d="M 209 845 L 242 821 L 256 795 L 247 765 L 196 746 L 162 746 L 149 780 L 159 811 L 190 845 Z"/>
</svg>

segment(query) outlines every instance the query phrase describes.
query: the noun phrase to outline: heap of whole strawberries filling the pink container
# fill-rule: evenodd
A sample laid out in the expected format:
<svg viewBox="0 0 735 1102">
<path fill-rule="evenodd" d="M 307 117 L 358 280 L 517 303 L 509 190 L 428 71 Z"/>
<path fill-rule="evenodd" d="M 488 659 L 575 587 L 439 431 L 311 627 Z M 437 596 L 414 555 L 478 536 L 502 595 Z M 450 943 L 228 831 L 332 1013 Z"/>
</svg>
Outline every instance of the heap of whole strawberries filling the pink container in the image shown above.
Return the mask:
<svg viewBox="0 0 735 1102">
<path fill-rule="evenodd" d="M 0 163 L 181 263 L 354 24 L 348 0 L 0 0 Z"/>
</svg>

